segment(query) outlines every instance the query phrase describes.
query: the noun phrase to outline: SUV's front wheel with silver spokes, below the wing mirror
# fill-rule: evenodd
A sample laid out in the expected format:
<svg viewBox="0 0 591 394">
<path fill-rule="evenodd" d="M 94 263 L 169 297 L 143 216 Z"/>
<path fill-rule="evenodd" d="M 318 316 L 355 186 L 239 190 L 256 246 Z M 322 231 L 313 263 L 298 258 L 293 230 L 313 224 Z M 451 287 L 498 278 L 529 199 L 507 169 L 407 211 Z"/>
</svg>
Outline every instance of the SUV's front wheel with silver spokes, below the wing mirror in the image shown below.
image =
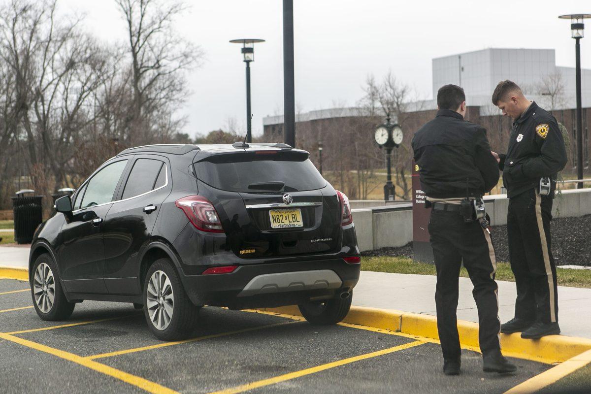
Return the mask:
<svg viewBox="0 0 591 394">
<path fill-rule="evenodd" d="M 33 263 L 30 278 L 33 307 L 47 321 L 66 320 L 72 315 L 75 302 L 69 302 L 61 287 L 57 264 L 49 253 L 43 253 Z"/>
</svg>

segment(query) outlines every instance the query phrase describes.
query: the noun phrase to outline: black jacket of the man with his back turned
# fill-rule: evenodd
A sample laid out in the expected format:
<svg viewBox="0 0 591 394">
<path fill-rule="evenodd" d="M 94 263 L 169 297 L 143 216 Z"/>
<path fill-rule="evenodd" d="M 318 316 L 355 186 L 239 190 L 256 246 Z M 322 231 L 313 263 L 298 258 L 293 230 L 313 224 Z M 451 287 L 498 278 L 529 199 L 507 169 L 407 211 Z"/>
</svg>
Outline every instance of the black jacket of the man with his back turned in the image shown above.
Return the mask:
<svg viewBox="0 0 591 394">
<path fill-rule="evenodd" d="M 486 130 L 459 113 L 440 109 L 413 138 L 421 187 L 429 197 L 479 197 L 499 181 Z"/>
</svg>

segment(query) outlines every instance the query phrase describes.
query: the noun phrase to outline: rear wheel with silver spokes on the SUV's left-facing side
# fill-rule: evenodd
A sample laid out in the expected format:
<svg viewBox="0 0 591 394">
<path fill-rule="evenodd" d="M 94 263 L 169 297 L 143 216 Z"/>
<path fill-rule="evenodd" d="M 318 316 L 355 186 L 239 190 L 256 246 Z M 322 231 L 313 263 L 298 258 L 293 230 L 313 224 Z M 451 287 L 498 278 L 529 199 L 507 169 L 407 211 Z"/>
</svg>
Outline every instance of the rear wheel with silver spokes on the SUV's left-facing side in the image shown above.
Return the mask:
<svg viewBox="0 0 591 394">
<path fill-rule="evenodd" d="M 154 336 L 163 341 L 189 337 L 199 310 L 187 297 L 173 262 L 155 261 L 144 279 L 144 315 Z"/>
</svg>

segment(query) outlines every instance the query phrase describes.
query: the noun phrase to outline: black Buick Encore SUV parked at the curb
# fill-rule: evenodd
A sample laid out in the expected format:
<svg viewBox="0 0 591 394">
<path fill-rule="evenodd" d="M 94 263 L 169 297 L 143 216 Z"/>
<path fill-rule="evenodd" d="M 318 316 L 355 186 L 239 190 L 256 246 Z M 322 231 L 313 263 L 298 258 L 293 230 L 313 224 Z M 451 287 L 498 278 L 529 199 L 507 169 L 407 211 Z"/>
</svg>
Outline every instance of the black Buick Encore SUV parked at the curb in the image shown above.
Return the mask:
<svg viewBox="0 0 591 394">
<path fill-rule="evenodd" d="M 348 198 L 285 144 L 148 145 L 101 165 L 35 232 L 31 292 L 44 320 L 84 299 L 133 302 L 163 340 L 203 305 L 349 311 L 361 259 Z"/>
</svg>

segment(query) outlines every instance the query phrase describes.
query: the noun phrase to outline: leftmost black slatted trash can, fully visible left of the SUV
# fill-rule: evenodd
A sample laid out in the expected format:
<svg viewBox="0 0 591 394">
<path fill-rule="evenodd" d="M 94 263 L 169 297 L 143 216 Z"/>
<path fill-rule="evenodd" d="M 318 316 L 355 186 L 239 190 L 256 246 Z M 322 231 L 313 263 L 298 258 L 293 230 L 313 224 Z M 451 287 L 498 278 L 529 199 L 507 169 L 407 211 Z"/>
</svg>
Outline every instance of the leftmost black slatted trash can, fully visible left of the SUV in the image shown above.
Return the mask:
<svg viewBox="0 0 591 394">
<path fill-rule="evenodd" d="M 31 193 L 31 196 L 25 194 Z M 11 197 L 14 212 L 14 240 L 16 243 L 31 243 L 35 229 L 43 222 L 43 196 L 35 196 L 30 189 L 17 191 Z"/>
</svg>

